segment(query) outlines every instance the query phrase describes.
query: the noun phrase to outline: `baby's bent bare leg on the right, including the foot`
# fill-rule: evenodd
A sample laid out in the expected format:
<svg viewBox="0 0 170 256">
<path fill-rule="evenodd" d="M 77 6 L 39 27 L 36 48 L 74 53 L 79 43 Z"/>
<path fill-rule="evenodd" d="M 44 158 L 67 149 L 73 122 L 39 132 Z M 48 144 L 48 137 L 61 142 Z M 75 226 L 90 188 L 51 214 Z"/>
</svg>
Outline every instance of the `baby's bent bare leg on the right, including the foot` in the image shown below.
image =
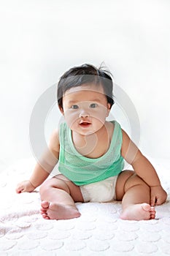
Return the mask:
<svg viewBox="0 0 170 256">
<path fill-rule="evenodd" d="M 119 186 L 123 186 L 121 192 Z M 123 172 L 117 179 L 117 194 L 122 198 L 121 219 L 144 220 L 155 218 L 155 208 L 150 206 L 150 187 L 132 172 Z"/>
</svg>

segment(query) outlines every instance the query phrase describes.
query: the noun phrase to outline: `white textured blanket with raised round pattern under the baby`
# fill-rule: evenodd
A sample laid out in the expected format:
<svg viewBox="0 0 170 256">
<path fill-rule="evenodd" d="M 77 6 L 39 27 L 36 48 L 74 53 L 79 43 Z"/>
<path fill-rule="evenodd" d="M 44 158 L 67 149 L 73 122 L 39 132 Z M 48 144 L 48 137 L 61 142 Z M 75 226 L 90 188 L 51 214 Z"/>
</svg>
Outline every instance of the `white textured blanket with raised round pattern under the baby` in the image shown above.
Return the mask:
<svg viewBox="0 0 170 256">
<path fill-rule="evenodd" d="M 69 220 L 45 220 L 39 192 L 15 193 L 34 159 L 23 159 L 0 173 L 0 255 L 170 255 L 170 203 L 156 207 L 148 221 L 119 219 L 121 203 L 77 203 L 82 214 Z M 170 195 L 170 162 L 152 162 Z"/>
</svg>

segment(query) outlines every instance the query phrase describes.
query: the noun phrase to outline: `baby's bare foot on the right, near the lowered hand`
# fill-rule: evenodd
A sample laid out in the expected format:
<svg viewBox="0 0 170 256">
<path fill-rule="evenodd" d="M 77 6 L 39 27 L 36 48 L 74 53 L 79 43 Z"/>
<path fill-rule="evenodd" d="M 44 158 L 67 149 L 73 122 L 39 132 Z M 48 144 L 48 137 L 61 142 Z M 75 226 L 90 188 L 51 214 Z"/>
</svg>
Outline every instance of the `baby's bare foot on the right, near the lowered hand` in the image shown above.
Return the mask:
<svg viewBox="0 0 170 256">
<path fill-rule="evenodd" d="M 120 219 L 148 220 L 155 219 L 155 208 L 148 203 L 139 203 L 126 207 L 120 215 Z"/>
</svg>

